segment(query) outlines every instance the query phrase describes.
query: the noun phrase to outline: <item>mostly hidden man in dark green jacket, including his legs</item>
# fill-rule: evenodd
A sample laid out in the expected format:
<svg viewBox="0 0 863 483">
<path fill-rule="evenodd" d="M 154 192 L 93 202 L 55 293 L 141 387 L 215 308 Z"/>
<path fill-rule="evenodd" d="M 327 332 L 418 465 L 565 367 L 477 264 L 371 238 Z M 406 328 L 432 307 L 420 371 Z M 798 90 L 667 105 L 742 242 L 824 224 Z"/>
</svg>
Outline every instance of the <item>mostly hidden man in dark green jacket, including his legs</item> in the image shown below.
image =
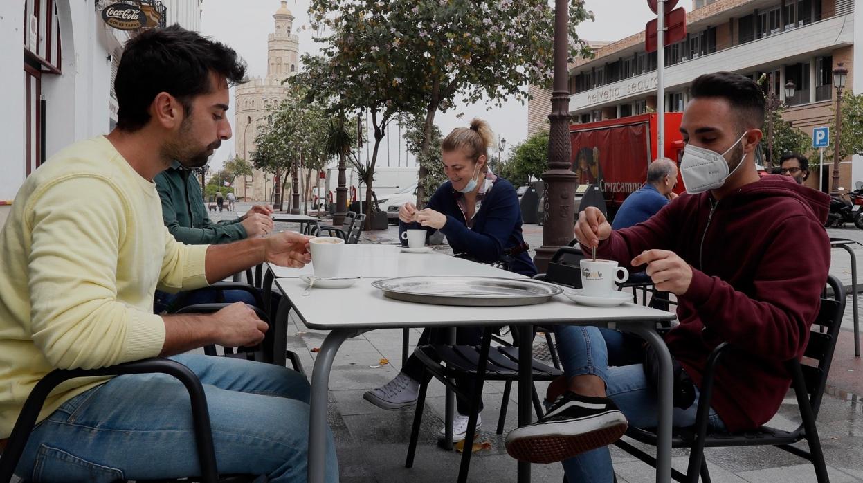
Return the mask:
<svg viewBox="0 0 863 483">
<path fill-rule="evenodd" d="M 273 231 L 273 218 L 270 217 L 273 209 L 264 204 L 252 206 L 245 215 L 235 220 L 212 223 L 198 180 L 177 161 L 157 174 L 154 181 L 161 198 L 162 220 L 178 242 L 187 245 L 230 243 Z M 223 296 L 224 302 L 255 304 L 255 298 L 249 292 L 228 290 L 223 292 Z M 186 305 L 213 302 L 217 302 L 217 294 L 212 291 L 198 290 L 180 298 L 179 294 L 157 290 L 153 310 L 161 313 L 175 311 Z"/>
</svg>

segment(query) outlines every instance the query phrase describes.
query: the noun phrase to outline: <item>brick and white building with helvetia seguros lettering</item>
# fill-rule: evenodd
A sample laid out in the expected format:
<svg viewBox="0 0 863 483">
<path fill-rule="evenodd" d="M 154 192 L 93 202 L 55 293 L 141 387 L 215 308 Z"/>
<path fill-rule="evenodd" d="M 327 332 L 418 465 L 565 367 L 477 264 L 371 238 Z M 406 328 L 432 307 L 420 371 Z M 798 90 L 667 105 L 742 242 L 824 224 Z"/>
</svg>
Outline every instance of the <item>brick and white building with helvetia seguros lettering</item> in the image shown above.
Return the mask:
<svg viewBox="0 0 863 483">
<path fill-rule="evenodd" d="M 784 119 L 811 135 L 833 118 L 836 90 L 832 71 L 849 70 L 845 91 L 860 93 L 863 75 L 860 10 L 854 0 L 694 0 L 687 14 L 687 35 L 665 48 L 665 109 L 682 111 L 692 80 L 705 72 L 732 71 L 759 78 L 768 74 L 772 91 L 788 109 Z M 645 53 L 645 34 L 595 48 L 594 59 L 570 65 L 572 122 L 595 122 L 655 110 L 657 53 Z M 784 85 L 795 85 L 785 98 Z M 532 88 L 528 132 L 543 129 L 551 111 L 550 93 Z M 859 158 L 859 157 L 857 157 Z M 831 160 L 832 161 L 832 160 Z M 818 160 L 810 160 L 810 168 Z M 828 160 L 825 160 L 827 163 Z M 844 160 L 841 185 L 863 180 L 863 165 Z M 825 170 L 827 171 L 827 170 Z M 818 186 L 817 166 L 809 185 Z M 828 176 L 832 175 L 828 172 Z M 853 183 L 851 183 L 853 185 Z"/>
</svg>

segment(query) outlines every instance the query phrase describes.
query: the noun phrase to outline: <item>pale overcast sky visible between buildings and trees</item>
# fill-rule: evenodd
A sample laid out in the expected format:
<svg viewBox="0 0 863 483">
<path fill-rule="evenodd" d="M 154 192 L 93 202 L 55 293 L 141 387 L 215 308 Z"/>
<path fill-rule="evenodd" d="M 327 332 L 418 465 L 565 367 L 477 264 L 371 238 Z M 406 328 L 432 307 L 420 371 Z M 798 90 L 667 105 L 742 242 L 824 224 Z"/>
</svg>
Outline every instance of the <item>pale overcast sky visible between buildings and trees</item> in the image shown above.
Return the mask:
<svg viewBox="0 0 863 483">
<path fill-rule="evenodd" d="M 620 40 L 645 28 L 645 23 L 652 16 L 645 0 L 587 0 L 586 4 L 588 9 L 593 10 L 596 20 L 578 26 L 577 32 L 582 39 L 590 41 Z M 687 10 L 691 8 L 688 0 L 681 2 L 681 5 Z M 274 31 L 273 14 L 279 7 L 279 0 L 247 0 L 242 3 L 236 0 L 205 0 L 201 32 L 233 47 L 249 65 L 249 76 L 263 77 L 267 74 L 267 37 Z M 312 32 L 307 28 L 308 0 L 288 0 L 287 8 L 296 17 L 293 30 L 299 36 L 300 54 L 317 53 L 319 46 L 312 41 Z M 234 109 L 233 102 L 232 92 L 231 112 Z M 494 133 L 507 141 L 507 151 L 524 140 L 527 135 L 526 103 L 512 99 L 501 108 L 486 110 L 487 107 L 486 104 L 479 103 L 450 110 L 445 114 L 438 113 L 435 123 L 446 135 L 454 128 L 466 126 L 471 117 L 477 116 L 488 120 Z M 459 112 L 464 113 L 462 119 L 457 118 Z M 230 115 L 230 120 L 233 125 L 233 114 Z M 389 133 L 389 166 L 396 166 L 398 160 L 398 130 L 395 128 L 393 125 Z M 404 145 L 401 150 L 401 166 L 405 166 Z M 230 159 L 233 153 L 234 140 L 231 139 L 224 142 L 213 155 L 211 164 L 220 166 L 224 160 Z M 506 157 L 504 155 L 505 159 Z M 410 161 L 413 165 L 413 156 Z M 387 166 L 386 147 L 381 147 L 377 166 Z"/>
</svg>

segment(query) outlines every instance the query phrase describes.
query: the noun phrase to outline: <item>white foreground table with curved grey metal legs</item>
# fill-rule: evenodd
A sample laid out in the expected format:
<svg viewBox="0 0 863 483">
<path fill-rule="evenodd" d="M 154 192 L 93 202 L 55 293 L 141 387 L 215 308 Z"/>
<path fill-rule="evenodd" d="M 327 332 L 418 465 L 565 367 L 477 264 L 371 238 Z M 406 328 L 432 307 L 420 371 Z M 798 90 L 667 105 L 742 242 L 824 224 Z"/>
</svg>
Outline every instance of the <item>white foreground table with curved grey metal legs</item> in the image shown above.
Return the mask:
<svg viewBox="0 0 863 483">
<path fill-rule="evenodd" d="M 381 251 L 381 253 L 383 253 Z M 407 254 L 405 254 L 407 255 Z M 411 254 L 413 255 L 413 254 Z M 463 266 L 467 260 L 459 260 L 441 254 L 417 255 L 425 260 L 424 269 L 445 271 L 447 267 L 454 270 L 469 270 Z M 384 254 L 380 257 L 382 264 L 393 255 Z M 395 258 L 401 259 L 401 254 Z M 472 263 L 472 262 L 467 262 Z M 450 266 L 451 264 L 451 266 Z M 422 266 L 423 264 L 420 264 Z M 458 273 L 450 271 L 447 274 L 476 274 L 501 276 L 502 270 L 480 264 L 474 264 L 473 270 L 482 273 Z M 444 267 L 440 267 L 444 266 Z M 425 272 L 428 274 L 429 272 Z M 409 273 L 418 275 L 423 273 Z M 520 277 L 511 274 L 513 277 Z M 614 308 L 595 308 L 576 305 L 564 296 L 557 296 L 546 304 L 526 305 L 516 307 L 463 307 L 432 304 L 413 304 L 384 297 L 383 293 L 371 286 L 375 278 L 361 279 L 346 289 L 312 289 L 307 296 L 302 296 L 306 284 L 298 279 L 276 279 L 275 284 L 282 293 L 279 311 L 276 315 L 276 325 L 287 326 L 288 311 L 293 308 L 297 317 L 310 329 L 331 330 L 321 345 L 318 357 L 312 371 L 312 400 L 309 419 L 309 465 L 308 481 L 324 481 L 324 454 L 326 435 L 326 405 L 332 362 L 342 343 L 354 336 L 373 329 L 404 329 L 404 328 L 451 328 L 460 326 L 503 326 L 519 325 L 526 327 L 521 330 L 519 343 L 520 381 L 519 381 L 519 425 L 532 423 L 532 325 L 541 323 L 579 324 L 606 327 L 615 323 L 617 329 L 626 330 L 643 337 L 656 349 L 659 356 L 659 386 L 658 386 L 658 445 L 656 480 L 665 483 L 671 480 L 671 354 L 665 342 L 656 332 L 656 323 L 670 321 L 674 315 L 651 309 L 642 305 L 624 304 Z M 338 304 L 333 304 L 333 292 L 337 290 Z M 362 307 L 362 311 L 356 311 Z M 283 337 L 277 337 L 277 341 Z M 282 342 L 284 343 L 284 342 Z M 284 354 L 284 350 L 276 350 L 276 354 Z M 530 480 L 530 464 L 520 462 L 518 480 Z"/>
</svg>

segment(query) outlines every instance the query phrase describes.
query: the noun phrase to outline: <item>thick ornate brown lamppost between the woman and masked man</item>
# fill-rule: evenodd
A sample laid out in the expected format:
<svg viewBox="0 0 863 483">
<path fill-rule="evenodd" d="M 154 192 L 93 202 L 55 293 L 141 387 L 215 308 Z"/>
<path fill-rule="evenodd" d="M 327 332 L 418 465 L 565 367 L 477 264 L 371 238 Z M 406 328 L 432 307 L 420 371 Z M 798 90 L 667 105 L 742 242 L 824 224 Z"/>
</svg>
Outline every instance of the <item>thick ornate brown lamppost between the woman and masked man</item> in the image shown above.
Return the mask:
<svg viewBox="0 0 863 483">
<path fill-rule="evenodd" d="M 551 129 L 548 141 L 548 167 L 545 182 L 545 223 L 542 247 L 533 262 L 545 272 L 557 248 L 572 240 L 575 222 L 576 173 L 570 169 L 570 89 L 569 89 L 569 3 L 555 0 L 554 8 L 554 84 L 551 91 Z"/>
</svg>

